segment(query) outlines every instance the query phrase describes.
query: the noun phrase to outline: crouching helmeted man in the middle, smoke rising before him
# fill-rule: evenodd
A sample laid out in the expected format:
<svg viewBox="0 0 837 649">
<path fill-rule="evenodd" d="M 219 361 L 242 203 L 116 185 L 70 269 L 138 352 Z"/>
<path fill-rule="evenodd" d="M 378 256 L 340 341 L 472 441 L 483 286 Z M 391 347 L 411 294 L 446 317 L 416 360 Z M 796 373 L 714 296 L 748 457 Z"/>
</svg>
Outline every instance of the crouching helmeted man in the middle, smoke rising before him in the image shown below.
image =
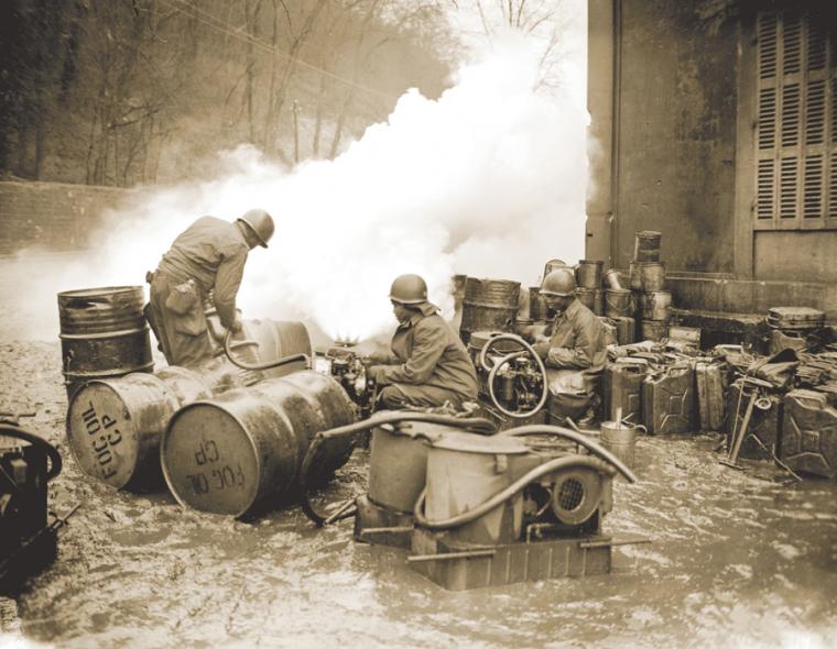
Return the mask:
<svg viewBox="0 0 837 649">
<path fill-rule="evenodd" d="M 477 374 L 465 345 L 427 301 L 427 285 L 418 275 L 401 275 L 390 289 L 398 329 L 388 355 L 371 354 L 370 376 L 379 387 L 379 405 L 454 407 L 477 398 Z"/>
</svg>

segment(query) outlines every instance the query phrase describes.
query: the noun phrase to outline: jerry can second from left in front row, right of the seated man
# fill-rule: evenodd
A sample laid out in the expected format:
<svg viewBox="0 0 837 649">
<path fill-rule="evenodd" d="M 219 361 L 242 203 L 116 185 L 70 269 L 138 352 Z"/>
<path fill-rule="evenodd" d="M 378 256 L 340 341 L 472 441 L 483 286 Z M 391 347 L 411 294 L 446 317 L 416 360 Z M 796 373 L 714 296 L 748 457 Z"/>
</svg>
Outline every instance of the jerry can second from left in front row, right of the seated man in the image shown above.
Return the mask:
<svg viewBox="0 0 837 649">
<path fill-rule="evenodd" d="M 695 429 L 694 370 L 670 365 L 642 382 L 642 422 L 651 435 L 689 432 Z"/>
</svg>

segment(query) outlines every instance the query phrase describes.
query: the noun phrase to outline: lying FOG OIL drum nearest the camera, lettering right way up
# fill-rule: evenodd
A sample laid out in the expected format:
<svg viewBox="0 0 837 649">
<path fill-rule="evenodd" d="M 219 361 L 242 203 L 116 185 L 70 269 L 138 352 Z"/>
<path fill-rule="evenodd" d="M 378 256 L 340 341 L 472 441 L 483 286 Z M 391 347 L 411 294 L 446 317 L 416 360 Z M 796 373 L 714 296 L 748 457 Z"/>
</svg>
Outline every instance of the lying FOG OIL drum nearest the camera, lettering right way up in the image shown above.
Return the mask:
<svg viewBox="0 0 837 649">
<path fill-rule="evenodd" d="M 330 376 L 305 371 L 268 378 L 181 408 L 163 435 L 163 475 L 182 505 L 242 516 L 298 481 L 314 435 L 354 418 Z M 347 438 L 324 443 L 314 480 L 330 475 L 350 452 Z"/>
</svg>

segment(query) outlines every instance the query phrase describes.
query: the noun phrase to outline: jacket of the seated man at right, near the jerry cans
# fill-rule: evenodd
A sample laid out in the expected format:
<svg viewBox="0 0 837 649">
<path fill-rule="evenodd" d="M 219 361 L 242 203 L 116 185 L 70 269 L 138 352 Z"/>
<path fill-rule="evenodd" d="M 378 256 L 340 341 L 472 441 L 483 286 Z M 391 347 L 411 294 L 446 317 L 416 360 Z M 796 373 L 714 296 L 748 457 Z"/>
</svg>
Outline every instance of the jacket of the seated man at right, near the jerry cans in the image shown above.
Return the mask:
<svg viewBox="0 0 837 649">
<path fill-rule="evenodd" d="M 555 370 L 584 370 L 600 373 L 607 363 L 605 326 L 578 299 L 555 317 L 544 332 L 550 337 L 550 351 L 544 359 Z"/>
</svg>

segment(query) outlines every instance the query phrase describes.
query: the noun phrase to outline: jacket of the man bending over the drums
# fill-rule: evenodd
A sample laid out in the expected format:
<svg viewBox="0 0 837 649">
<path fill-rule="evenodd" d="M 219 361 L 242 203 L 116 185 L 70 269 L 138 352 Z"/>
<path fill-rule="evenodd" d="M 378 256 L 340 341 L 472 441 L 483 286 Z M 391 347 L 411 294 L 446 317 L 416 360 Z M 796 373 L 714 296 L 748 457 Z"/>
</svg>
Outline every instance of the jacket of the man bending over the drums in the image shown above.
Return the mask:
<svg viewBox="0 0 837 649">
<path fill-rule="evenodd" d="M 221 324 L 229 328 L 249 252 L 236 223 L 202 217 L 174 240 L 157 271 L 180 282 L 195 279 L 203 297 L 213 290 Z"/>
</svg>

